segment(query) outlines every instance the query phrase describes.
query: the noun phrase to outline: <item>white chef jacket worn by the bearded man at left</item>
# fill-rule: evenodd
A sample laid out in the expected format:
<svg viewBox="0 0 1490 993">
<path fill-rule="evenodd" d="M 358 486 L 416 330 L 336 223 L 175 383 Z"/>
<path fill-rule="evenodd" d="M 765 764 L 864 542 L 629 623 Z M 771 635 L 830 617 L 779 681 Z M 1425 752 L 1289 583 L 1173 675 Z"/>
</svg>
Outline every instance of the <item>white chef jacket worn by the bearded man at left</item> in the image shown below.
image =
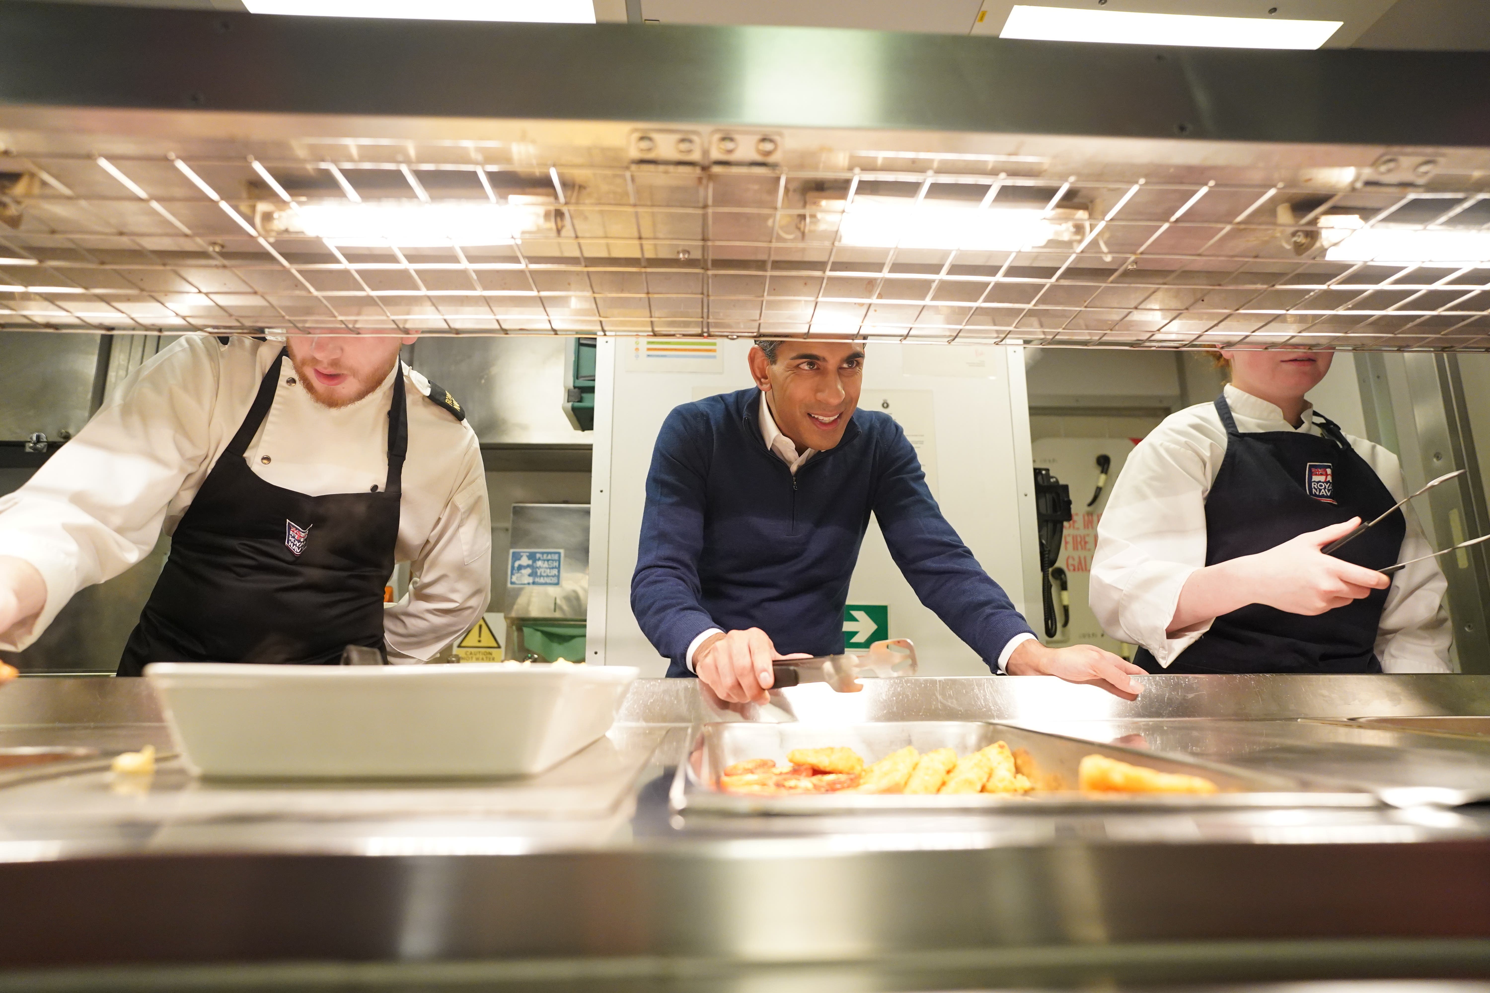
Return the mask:
<svg viewBox="0 0 1490 993">
<path fill-rule="evenodd" d="M 0 631 L 21 651 L 83 587 L 118 576 L 171 534 L 253 405 L 283 341 L 188 335 L 137 369 L 92 420 L 15 493 L 0 497 L 0 555 L 46 581 L 28 631 Z M 411 563 L 408 594 L 383 615 L 390 662 L 422 662 L 475 624 L 492 587 L 492 523 L 475 433 L 423 396 L 429 381 L 398 363 L 343 408 L 279 387 L 246 453 L 261 479 L 307 496 L 368 493 L 387 479 L 387 408 L 404 372 L 408 456 L 395 560 Z M 267 460 L 267 464 L 265 464 Z"/>
</svg>

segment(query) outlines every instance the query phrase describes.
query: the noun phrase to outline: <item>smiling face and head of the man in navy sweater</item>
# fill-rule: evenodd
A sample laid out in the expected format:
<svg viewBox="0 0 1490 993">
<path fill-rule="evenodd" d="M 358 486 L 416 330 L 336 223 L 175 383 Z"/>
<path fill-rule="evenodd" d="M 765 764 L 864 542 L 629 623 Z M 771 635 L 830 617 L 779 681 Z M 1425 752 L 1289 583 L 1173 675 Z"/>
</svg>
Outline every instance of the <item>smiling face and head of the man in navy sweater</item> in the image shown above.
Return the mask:
<svg viewBox="0 0 1490 993">
<path fill-rule="evenodd" d="M 755 386 L 766 392 L 776 427 L 799 450 L 825 451 L 843 441 L 863 386 L 863 345 L 779 341 L 775 362 L 760 348 L 751 348 L 749 371 Z"/>
</svg>

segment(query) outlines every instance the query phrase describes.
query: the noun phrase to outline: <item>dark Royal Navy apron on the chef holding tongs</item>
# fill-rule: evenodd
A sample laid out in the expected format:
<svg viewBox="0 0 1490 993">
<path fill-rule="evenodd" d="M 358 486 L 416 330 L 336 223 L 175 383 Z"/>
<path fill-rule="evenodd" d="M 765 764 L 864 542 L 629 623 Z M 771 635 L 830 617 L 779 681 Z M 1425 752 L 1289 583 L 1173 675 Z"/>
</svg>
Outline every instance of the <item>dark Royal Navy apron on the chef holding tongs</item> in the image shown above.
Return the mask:
<svg viewBox="0 0 1490 993">
<path fill-rule="evenodd" d="M 1314 414 L 1325 435 L 1243 435 L 1226 396 L 1226 457 L 1205 497 L 1205 564 L 1268 551 L 1305 531 L 1359 517 L 1371 521 L 1396 499 L 1340 427 Z M 1351 539 L 1337 555 L 1386 569 L 1402 551 L 1407 518 L 1398 511 Z M 1150 673 L 1380 673 L 1374 646 L 1386 590 L 1317 616 L 1253 603 L 1216 618 L 1168 668 L 1147 649 L 1134 662 Z"/>
</svg>

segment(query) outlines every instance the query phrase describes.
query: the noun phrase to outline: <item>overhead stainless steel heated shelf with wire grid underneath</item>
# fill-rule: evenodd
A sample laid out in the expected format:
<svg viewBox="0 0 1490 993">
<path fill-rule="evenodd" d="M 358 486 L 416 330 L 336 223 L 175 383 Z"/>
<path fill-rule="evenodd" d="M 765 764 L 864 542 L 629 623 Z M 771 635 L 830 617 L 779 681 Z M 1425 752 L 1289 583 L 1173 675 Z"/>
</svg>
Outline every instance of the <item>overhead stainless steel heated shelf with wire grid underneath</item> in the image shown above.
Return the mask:
<svg viewBox="0 0 1490 993">
<path fill-rule="evenodd" d="M 390 49 L 401 71 L 374 71 Z M 0 328 L 1483 350 L 1483 264 L 1332 259 L 1320 220 L 1483 231 L 1487 73 L 1483 54 L 9 0 Z M 527 220 L 475 246 L 292 223 L 358 204 Z M 1030 210 L 1050 237 L 863 243 L 855 204 Z"/>
</svg>

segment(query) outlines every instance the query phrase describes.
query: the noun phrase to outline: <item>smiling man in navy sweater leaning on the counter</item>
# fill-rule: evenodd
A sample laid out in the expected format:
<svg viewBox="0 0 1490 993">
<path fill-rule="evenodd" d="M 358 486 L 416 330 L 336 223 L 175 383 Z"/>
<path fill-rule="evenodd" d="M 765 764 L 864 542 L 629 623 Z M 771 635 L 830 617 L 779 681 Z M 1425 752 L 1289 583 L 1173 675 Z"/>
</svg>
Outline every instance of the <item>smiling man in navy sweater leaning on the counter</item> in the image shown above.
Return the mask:
<svg viewBox="0 0 1490 993">
<path fill-rule="evenodd" d="M 761 341 L 749 351 L 757 389 L 668 415 L 632 576 L 632 612 L 672 660 L 668 674 L 697 674 L 724 700 L 763 700 L 773 660 L 842 652 L 873 514 L 916 596 L 989 668 L 1137 694 L 1137 665 L 1036 640 L 942 517 L 900 426 L 855 409 L 863 365 L 854 344 Z"/>
</svg>

